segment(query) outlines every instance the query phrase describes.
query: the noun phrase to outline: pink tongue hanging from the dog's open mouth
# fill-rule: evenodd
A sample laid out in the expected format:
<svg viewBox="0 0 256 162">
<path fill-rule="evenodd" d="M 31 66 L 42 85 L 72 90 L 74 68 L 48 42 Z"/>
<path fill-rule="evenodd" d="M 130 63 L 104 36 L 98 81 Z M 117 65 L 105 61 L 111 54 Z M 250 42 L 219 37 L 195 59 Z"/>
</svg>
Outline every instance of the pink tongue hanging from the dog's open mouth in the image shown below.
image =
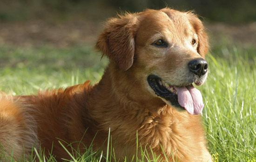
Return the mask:
<svg viewBox="0 0 256 162">
<path fill-rule="evenodd" d="M 203 109 L 202 95 L 198 89 L 193 86 L 175 87 L 178 93 L 178 102 L 190 114 L 200 114 Z"/>
</svg>

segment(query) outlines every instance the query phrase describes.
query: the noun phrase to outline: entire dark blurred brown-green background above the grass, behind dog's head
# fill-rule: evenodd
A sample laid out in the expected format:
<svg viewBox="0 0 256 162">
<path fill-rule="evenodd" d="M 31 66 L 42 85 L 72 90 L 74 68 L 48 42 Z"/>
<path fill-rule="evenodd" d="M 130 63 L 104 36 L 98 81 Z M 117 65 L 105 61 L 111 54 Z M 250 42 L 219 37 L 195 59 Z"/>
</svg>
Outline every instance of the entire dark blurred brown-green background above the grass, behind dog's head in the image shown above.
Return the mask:
<svg viewBox="0 0 256 162">
<path fill-rule="evenodd" d="M 117 12 L 165 6 L 194 10 L 214 46 L 256 45 L 256 0 L 0 0 L 0 44 L 93 45 L 102 22 Z"/>
</svg>

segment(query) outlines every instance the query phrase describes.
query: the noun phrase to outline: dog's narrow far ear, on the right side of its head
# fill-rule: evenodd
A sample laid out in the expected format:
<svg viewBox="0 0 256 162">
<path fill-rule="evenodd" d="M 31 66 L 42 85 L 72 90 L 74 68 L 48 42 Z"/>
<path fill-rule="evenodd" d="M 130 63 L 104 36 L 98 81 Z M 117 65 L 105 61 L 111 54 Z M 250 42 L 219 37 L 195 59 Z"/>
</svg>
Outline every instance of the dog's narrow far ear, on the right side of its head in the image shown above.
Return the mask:
<svg viewBox="0 0 256 162">
<path fill-rule="evenodd" d="M 202 21 L 198 19 L 195 14 L 193 14 L 192 12 L 187 12 L 187 15 L 189 16 L 189 21 L 194 27 L 198 37 L 197 52 L 204 57 L 209 50 L 208 35 L 205 32 Z"/>
</svg>

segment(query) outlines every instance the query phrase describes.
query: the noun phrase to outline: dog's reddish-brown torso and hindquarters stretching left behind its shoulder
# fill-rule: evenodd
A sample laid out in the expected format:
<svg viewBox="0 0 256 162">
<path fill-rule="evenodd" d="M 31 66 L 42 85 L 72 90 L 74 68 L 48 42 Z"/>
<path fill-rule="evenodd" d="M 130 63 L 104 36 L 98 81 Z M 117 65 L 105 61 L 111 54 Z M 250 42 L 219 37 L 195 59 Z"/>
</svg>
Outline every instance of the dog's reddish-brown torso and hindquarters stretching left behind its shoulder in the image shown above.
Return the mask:
<svg viewBox="0 0 256 162">
<path fill-rule="evenodd" d="M 39 92 L 38 95 L 8 96 L 0 99 L 1 154 L 16 159 L 29 155 L 32 148 L 44 148 L 57 157 L 68 158 L 68 150 L 84 148 L 92 142 L 92 131 L 87 125 L 96 125 L 86 111 L 86 93 L 89 81 L 81 85 Z M 83 118 L 86 116 L 86 118 Z M 89 131 L 88 131 L 89 132 Z M 96 132 L 95 132 L 96 133 Z M 83 136 L 84 140 L 81 144 Z M 72 145 L 68 146 L 72 141 Z M 60 144 L 61 142 L 61 144 Z M 77 147 L 81 148 L 77 148 Z"/>
</svg>

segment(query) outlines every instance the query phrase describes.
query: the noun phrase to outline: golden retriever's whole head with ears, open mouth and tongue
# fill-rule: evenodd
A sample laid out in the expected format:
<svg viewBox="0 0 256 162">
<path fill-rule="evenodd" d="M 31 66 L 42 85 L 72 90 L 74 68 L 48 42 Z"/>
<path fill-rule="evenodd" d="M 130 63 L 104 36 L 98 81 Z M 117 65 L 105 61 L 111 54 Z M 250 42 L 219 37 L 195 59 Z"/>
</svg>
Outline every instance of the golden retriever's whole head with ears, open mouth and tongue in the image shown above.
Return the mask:
<svg viewBox="0 0 256 162">
<path fill-rule="evenodd" d="M 169 8 L 109 19 L 96 47 L 116 68 L 132 71 L 141 88 L 190 114 L 202 112 L 201 85 L 208 74 L 208 37 L 192 12 Z"/>
</svg>

